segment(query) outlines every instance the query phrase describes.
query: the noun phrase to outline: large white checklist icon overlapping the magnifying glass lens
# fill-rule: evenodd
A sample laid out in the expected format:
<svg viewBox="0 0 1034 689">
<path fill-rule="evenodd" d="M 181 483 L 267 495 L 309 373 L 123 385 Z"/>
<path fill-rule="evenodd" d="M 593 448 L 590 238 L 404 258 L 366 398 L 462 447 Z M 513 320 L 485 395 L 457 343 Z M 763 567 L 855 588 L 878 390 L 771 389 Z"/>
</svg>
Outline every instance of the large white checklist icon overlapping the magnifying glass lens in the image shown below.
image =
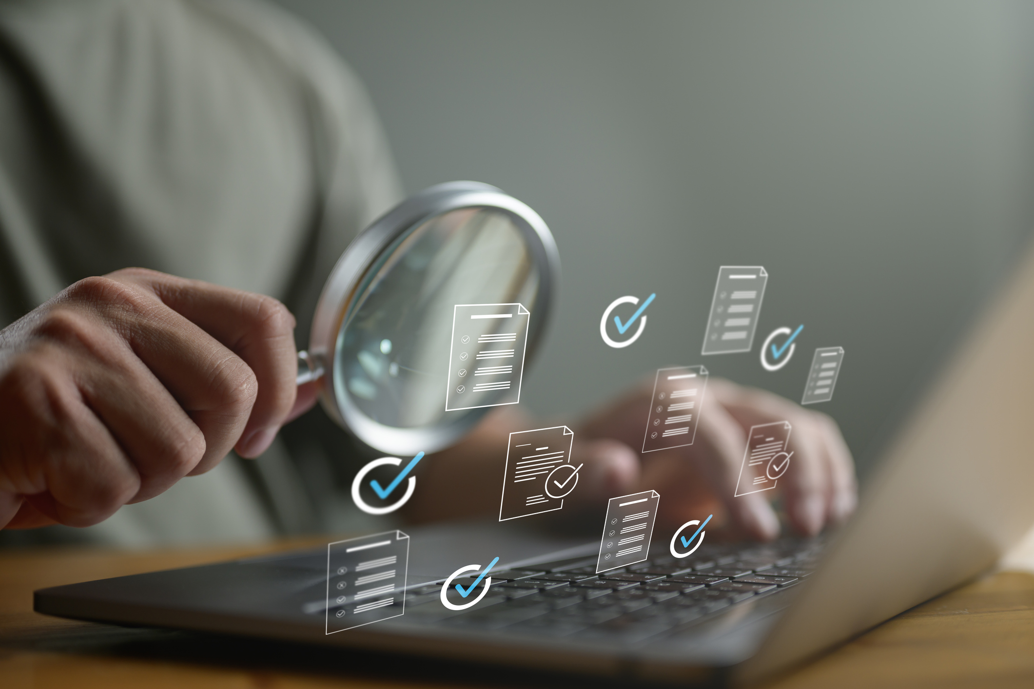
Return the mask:
<svg viewBox="0 0 1034 689">
<path fill-rule="evenodd" d="M 446 411 L 517 404 L 531 314 L 520 304 L 457 304 Z M 515 394 L 508 402 L 499 400 Z"/>
</svg>

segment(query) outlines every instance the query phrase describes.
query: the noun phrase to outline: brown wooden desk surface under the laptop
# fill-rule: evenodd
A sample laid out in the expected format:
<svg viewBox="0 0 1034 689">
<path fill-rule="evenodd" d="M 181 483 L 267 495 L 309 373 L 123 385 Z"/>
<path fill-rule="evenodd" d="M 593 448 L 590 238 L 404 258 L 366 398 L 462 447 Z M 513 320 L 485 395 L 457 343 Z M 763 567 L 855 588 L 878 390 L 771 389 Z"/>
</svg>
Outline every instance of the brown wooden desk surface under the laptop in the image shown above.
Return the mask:
<svg viewBox="0 0 1034 689">
<path fill-rule="evenodd" d="M 323 542 L 323 541 L 315 541 Z M 311 545 L 125 553 L 0 553 L 0 685 L 50 687 L 527 686 L 539 682 L 423 660 L 382 662 L 340 650 L 123 629 L 32 612 L 34 589 Z M 557 682 L 557 686 L 572 686 Z M 1034 686 L 1034 576 L 990 575 L 909 610 L 765 689 Z"/>
</svg>

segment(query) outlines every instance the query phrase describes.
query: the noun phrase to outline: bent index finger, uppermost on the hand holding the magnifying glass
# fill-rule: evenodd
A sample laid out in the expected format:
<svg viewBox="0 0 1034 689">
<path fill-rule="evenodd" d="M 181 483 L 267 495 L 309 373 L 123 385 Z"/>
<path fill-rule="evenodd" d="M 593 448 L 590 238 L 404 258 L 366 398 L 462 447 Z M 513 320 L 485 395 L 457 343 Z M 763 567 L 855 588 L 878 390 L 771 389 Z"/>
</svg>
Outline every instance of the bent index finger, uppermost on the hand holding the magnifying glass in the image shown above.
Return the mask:
<svg viewBox="0 0 1034 689">
<path fill-rule="evenodd" d="M 123 273 L 113 275 L 122 279 Z M 297 394 L 295 317 L 286 307 L 271 296 L 161 273 L 133 270 L 124 277 L 147 285 L 166 306 L 247 364 L 257 393 L 236 447 L 243 457 L 265 451 L 292 411 Z"/>
</svg>

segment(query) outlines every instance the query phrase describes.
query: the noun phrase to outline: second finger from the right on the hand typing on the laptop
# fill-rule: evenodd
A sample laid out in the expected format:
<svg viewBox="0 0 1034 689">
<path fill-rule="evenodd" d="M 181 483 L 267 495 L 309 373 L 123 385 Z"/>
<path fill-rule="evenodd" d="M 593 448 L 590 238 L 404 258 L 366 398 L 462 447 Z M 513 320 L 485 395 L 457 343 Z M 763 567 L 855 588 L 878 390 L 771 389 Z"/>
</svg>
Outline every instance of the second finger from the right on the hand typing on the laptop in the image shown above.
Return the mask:
<svg viewBox="0 0 1034 689">
<path fill-rule="evenodd" d="M 718 383 L 713 387 L 716 394 L 742 428 L 774 421 L 790 424 L 788 448 L 793 451 L 793 458 L 790 468 L 779 480 L 779 488 L 794 528 L 805 535 L 818 533 L 825 523 L 830 479 L 825 447 L 812 413 L 764 390 L 714 382 Z"/>
</svg>

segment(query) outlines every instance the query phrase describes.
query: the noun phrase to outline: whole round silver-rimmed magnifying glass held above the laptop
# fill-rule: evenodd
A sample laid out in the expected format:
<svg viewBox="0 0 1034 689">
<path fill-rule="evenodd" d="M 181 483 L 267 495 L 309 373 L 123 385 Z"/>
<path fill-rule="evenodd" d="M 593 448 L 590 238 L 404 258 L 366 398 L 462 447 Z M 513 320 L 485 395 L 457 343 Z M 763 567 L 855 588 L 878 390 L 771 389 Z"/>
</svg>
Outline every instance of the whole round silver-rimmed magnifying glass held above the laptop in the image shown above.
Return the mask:
<svg viewBox="0 0 1034 689">
<path fill-rule="evenodd" d="M 446 410 L 457 305 L 520 304 L 524 363 L 545 331 L 559 254 L 542 218 L 479 182 L 439 184 L 373 222 L 341 254 L 316 305 L 298 384 L 321 381 L 339 426 L 391 455 L 433 452 L 462 437 L 513 389 Z"/>
</svg>

